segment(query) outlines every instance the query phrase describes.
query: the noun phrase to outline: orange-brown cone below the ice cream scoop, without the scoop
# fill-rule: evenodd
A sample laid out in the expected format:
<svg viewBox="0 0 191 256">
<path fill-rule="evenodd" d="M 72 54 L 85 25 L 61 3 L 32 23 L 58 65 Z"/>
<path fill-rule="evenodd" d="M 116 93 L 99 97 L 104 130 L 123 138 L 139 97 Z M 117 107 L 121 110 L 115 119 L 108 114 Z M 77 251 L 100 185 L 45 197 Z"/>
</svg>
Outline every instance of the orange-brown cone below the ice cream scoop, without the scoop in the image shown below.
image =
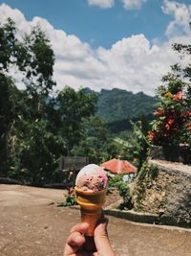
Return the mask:
<svg viewBox="0 0 191 256">
<path fill-rule="evenodd" d="M 86 236 L 93 237 L 96 222 L 101 215 L 101 208 L 105 202 L 106 189 L 98 192 L 82 191 L 75 187 L 76 201 L 80 205 L 81 221 L 88 222 L 90 227 Z"/>
</svg>

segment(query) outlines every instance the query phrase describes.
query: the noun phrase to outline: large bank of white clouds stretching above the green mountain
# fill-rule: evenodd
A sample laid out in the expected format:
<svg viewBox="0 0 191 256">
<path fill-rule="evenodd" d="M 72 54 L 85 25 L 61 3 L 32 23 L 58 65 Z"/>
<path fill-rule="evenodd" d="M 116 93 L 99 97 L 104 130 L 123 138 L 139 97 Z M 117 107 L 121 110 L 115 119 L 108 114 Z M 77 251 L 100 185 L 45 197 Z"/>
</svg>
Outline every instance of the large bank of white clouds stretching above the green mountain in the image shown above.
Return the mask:
<svg viewBox="0 0 191 256">
<path fill-rule="evenodd" d="M 89 86 L 99 91 L 101 88 L 116 87 L 154 95 L 161 76 L 178 59 L 171 50 L 172 41 L 157 46 L 152 45 L 144 35 L 132 35 L 118 40 L 111 49 L 99 47 L 94 50 L 77 36 L 55 30 L 46 19 L 34 17 L 32 21 L 27 21 L 18 10 L 1 5 L 0 22 L 9 16 L 14 19 L 19 35 L 30 32 L 33 26 L 40 24 L 51 39 L 55 55 L 53 78 L 57 90 L 68 84 L 74 89 Z M 17 74 L 15 78 L 19 80 L 20 77 Z"/>
</svg>

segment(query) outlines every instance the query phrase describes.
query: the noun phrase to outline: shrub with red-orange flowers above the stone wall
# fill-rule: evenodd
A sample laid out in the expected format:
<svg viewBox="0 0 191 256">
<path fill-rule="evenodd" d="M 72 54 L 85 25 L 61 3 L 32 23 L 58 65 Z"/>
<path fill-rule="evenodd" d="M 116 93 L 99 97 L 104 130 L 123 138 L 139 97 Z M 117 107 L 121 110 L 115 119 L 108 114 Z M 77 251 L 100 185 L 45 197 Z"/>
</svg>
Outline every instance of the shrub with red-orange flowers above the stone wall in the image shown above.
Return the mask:
<svg viewBox="0 0 191 256">
<path fill-rule="evenodd" d="M 191 145 L 191 108 L 182 90 L 172 93 L 159 88 L 159 108 L 155 111 L 148 139 L 154 145 Z"/>
</svg>

